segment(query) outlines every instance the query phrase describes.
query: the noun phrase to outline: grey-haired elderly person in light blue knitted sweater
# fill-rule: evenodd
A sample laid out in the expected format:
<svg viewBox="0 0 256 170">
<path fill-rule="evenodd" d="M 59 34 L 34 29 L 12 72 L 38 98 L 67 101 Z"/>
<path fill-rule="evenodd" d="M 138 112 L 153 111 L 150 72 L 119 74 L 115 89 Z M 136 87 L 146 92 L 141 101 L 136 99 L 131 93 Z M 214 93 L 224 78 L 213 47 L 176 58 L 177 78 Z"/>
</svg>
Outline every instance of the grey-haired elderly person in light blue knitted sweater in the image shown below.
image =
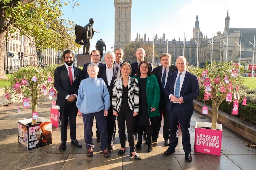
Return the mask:
<svg viewBox="0 0 256 170">
<path fill-rule="evenodd" d="M 76 106 L 79 109 L 78 115 L 83 116 L 84 139 L 87 148 L 87 156 L 92 157 L 94 144 L 92 143 L 92 124 L 95 116 L 96 125 L 100 131 L 100 148 L 105 158 L 109 157 L 108 152 L 108 130 L 107 119 L 108 108 L 110 107 L 110 96 L 104 80 L 97 78 L 99 67 L 91 63 L 87 67 L 89 77 L 82 80 L 78 89 Z"/>
</svg>

